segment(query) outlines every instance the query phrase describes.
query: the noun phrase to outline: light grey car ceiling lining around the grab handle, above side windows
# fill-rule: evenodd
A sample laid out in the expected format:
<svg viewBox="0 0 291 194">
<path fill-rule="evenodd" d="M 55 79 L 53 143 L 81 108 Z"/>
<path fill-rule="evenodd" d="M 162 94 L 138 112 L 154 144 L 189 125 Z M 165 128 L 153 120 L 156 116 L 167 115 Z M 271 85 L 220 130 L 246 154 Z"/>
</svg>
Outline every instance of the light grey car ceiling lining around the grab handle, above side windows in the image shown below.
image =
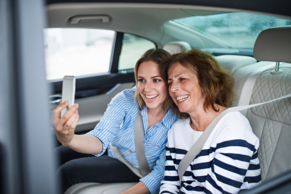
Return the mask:
<svg viewBox="0 0 291 194">
<path fill-rule="evenodd" d="M 72 2 L 74 1 L 74 2 Z M 55 0 L 47 1 L 47 16 L 48 16 L 48 27 L 49 28 L 97 28 L 97 29 L 107 29 L 114 30 L 118 32 L 129 32 L 132 34 L 140 35 L 146 37 L 161 47 L 161 40 L 163 36 L 163 24 L 166 21 L 189 17 L 189 16 L 206 16 L 206 15 L 214 15 L 214 14 L 222 14 L 229 12 L 238 12 L 242 10 L 234 9 L 238 8 L 233 1 L 237 2 L 237 0 L 231 0 L 228 2 L 232 2 L 227 6 L 223 3 L 224 0 L 220 0 L 218 2 L 210 2 L 209 0 L 205 0 L 205 3 L 202 3 L 199 0 L 191 1 L 196 5 L 187 5 L 190 4 L 190 1 L 187 2 L 185 0 L 168 0 L 167 3 L 124 3 L 120 0 L 120 2 L 109 1 L 102 2 L 99 0 L 98 2 L 89 2 L 93 0 L 77 1 L 77 0 L 58 0 L 56 3 Z M 282 1 L 282 0 L 281 0 Z M 289 0 L 290 1 L 290 0 Z M 128 2 L 128 1 L 127 1 Z M 150 2 L 148 1 L 140 1 L 140 2 Z M 162 2 L 161 0 L 157 0 L 155 2 Z M 169 4 L 169 2 L 173 2 L 176 4 Z M 180 4 L 177 4 L 180 3 Z M 208 3 L 206 3 L 208 2 Z M 243 7 L 243 1 L 240 1 Z M 253 2 L 253 1 L 252 1 Z M 258 0 L 254 2 L 259 2 Z M 256 3 L 251 3 L 248 6 L 249 10 L 254 10 L 256 8 Z M 266 3 L 267 2 L 267 3 Z M 264 6 L 260 7 L 260 10 L 263 11 L 264 8 L 268 7 L 268 0 L 264 1 Z M 282 2 L 285 2 L 284 0 Z M 184 3 L 184 4 L 182 4 Z M 290 2 L 288 2 L 290 4 Z M 212 5 L 210 6 L 205 6 Z M 280 3 L 276 3 L 276 5 L 281 5 Z M 202 6 L 204 5 L 204 6 Z M 224 6 L 225 5 L 225 6 Z M 218 7 L 213 7 L 218 6 Z M 224 8 L 221 8 L 223 7 Z M 226 8 L 228 7 L 228 8 Z M 229 7 L 232 7 L 230 9 Z M 278 6 L 274 7 L 271 15 L 275 15 L 275 10 Z M 286 9 L 286 8 L 284 8 Z M 258 9 L 257 9 L 258 11 Z M 253 11 L 252 11 L 253 12 Z M 253 12 L 258 13 L 258 12 Z M 290 12 L 288 12 L 290 15 Z M 101 22 L 100 19 L 86 19 L 81 20 L 78 24 L 71 24 L 70 19 L 73 16 L 92 16 L 92 15 L 107 15 L 110 20 L 107 23 Z M 286 16 L 284 16 L 286 17 Z"/>
</svg>

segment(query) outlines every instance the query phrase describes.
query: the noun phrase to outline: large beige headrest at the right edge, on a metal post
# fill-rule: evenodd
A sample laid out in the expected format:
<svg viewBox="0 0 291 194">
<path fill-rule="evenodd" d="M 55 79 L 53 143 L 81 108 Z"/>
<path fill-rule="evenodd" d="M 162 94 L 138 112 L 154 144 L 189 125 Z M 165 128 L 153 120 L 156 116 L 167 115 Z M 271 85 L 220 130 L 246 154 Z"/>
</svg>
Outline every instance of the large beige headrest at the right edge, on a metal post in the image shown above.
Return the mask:
<svg viewBox="0 0 291 194">
<path fill-rule="evenodd" d="M 291 26 L 260 32 L 254 46 L 254 57 L 259 61 L 291 63 Z"/>
</svg>

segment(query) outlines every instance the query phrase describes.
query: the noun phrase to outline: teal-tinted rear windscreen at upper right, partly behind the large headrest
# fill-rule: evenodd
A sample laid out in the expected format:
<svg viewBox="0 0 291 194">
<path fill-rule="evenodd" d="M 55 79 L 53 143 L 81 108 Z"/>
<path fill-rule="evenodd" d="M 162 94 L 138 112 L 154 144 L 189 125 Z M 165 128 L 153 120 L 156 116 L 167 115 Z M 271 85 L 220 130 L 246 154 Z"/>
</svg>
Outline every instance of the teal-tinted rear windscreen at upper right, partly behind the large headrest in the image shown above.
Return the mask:
<svg viewBox="0 0 291 194">
<path fill-rule="evenodd" d="M 230 48 L 253 49 L 260 32 L 291 25 L 291 20 L 250 13 L 192 16 L 173 20 L 218 39 Z"/>
</svg>

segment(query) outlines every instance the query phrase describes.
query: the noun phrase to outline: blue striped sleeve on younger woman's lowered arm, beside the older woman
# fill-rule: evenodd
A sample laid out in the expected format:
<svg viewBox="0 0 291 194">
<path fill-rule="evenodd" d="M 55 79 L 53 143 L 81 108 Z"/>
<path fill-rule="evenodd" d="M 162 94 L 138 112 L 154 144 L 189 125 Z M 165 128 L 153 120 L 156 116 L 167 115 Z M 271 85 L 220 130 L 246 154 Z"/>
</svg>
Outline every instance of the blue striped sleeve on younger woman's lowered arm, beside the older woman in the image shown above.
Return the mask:
<svg viewBox="0 0 291 194">
<path fill-rule="evenodd" d="M 161 181 L 164 177 L 166 162 L 165 151 L 166 150 L 164 149 L 164 151 L 161 153 L 160 158 L 157 160 L 153 170 L 148 175 L 146 175 L 146 177 L 140 179 L 140 181 L 146 185 L 151 194 L 156 194 L 159 191 Z"/>
</svg>

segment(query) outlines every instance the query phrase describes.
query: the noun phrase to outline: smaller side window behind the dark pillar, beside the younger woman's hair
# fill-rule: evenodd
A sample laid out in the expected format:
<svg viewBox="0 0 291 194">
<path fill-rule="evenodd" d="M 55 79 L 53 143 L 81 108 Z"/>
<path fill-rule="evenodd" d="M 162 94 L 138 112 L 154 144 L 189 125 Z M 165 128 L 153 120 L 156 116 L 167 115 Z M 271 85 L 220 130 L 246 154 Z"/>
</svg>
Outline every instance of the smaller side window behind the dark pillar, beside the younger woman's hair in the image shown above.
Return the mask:
<svg viewBox="0 0 291 194">
<path fill-rule="evenodd" d="M 118 70 L 134 68 L 135 63 L 146 50 L 155 48 L 155 43 L 146 38 L 124 33 Z"/>
</svg>

